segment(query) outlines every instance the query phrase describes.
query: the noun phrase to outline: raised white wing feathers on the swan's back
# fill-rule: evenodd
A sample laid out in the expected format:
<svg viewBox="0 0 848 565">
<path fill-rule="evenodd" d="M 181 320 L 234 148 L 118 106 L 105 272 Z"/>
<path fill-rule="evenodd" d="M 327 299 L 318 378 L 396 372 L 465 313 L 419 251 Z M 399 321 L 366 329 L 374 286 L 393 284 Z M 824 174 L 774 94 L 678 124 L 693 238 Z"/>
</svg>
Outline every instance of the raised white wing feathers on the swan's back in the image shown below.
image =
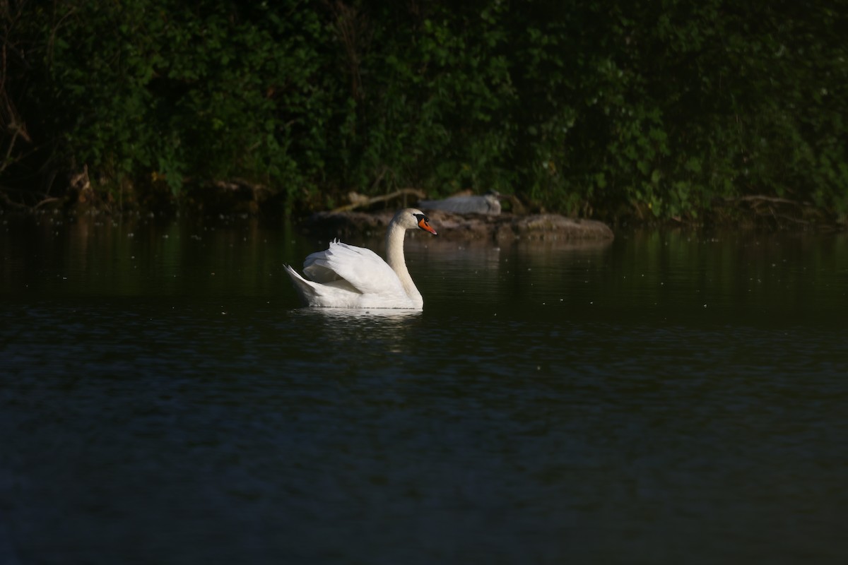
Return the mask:
<svg viewBox="0 0 848 565">
<path fill-rule="evenodd" d="M 304 261 L 304 275 L 321 284 L 350 285 L 361 294 L 400 293 L 405 296 L 398 275 L 377 253 L 364 247 L 332 241 L 326 251 L 315 252 Z M 344 285 L 346 286 L 346 285 Z"/>
</svg>

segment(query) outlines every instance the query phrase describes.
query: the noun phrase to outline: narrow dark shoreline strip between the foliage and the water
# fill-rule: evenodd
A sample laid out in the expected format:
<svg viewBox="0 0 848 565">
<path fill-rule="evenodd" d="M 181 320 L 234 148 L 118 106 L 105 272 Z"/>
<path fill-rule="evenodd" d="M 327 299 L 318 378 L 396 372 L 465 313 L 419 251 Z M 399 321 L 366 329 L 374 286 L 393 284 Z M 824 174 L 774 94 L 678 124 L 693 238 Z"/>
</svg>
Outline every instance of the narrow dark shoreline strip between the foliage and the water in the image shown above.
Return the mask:
<svg viewBox="0 0 848 565">
<path fill-rule="evenodd" d="M 216 202 L 223 205 L 204 205 L 197 200 L 192 202 L 171 202 L 165 207 L 143 207 L 132 205 L 120 209 L 114 202 L 102 202 L 89 199 L 80 202 L 76 199 L 53 198 L 38 206 L 4 206 L 0 200 L 0 219 L 6 221 L 18 218 L 61 217 L 65 221 L 84 218 L 110 219 L 192 219 L 206 221 L 213 219 L 232 220 L 254 218 L 269 223 L 291 223 L 306 235 L 327 235 L 328 230 L 336 230 L 336 235 L 382 235 L 395 208 L 384 208 L 372 212 L 360 211 L 319 211 L 288 208 L 283 202 Z M 8 202 L 6 202 L 8 203 Z M 228 205 L 229 204 L 229 205 Z M 235 205 L 232 205 L 235 204 Z M 263 205 L 265 204 L 265 205 Z M 734 211 L 705 210 L 699 220 L 692 219 L 645 219 L 627 214 L 616 217 L 612 222 L 600 219 L 573 218 L 561 213 L 511 213 L 497 215 L 455 214 L 438 210 L 426 210 L 434 223 L 442 226 L 444 237 L 456 241 L 510 241 L 510 240 L 562 240 L 562 241 L 604 241 L 612 240 L 614 232 L 633 229 L 682 229 L 693 231 L 736 230 L 739 232 L 757 231 L 767 233 L 840 233 L 848 230 L 848 224 L 839 219 L 819 215 L 817 218 L 801 221 L 783 214 L 766 215 L 745 206 Z M 440 236 L 443 233 L 440 232 Z"/>
</svg>

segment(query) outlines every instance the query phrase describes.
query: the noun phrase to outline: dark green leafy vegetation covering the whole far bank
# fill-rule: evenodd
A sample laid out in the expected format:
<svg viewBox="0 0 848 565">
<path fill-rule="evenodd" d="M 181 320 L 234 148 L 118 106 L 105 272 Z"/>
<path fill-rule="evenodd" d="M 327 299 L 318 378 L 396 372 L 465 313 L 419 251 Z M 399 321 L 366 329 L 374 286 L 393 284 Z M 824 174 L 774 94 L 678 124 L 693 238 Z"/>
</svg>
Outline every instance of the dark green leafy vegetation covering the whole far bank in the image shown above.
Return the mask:
<svg viewBox="0 0 848 565">
<path fill-rule="evenodd" d="M 0 0 L 0 207 L 414 187 L 845 224 L 845 29 L 817 0 Z"/>
</svg>

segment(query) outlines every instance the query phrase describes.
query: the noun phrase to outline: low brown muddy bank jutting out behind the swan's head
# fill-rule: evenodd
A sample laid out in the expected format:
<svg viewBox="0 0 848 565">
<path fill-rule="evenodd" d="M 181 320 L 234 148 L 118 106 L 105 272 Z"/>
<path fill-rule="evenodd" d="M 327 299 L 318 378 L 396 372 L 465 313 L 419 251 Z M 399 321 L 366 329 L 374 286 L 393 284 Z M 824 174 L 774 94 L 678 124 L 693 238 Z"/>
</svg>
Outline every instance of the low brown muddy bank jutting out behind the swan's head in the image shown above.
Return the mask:
<svg viewBox="0 0 848 565">
<path fill-rule="evenodd" d="M 376 213 L 319 212 L 305 219 L 301 228 L 311 235 L 325 237 L 382 235 L 393 214 L 393 210 Z M 566 218 L 554 213 L 501 213 L 492 216 L 432 211 L 427 215 L 438 230 L 438 236 L 451 241 L 606 241 L 614 237 L 610 227 L 603 222 Z"/>
</svg>

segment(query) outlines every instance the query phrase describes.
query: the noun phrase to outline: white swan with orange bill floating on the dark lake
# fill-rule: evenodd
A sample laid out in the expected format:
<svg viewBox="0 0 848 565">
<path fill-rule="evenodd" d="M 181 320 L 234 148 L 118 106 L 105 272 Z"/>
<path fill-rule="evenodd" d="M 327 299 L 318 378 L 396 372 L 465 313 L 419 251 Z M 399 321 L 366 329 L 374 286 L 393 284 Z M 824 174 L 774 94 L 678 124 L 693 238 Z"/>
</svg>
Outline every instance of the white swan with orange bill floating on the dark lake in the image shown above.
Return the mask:
<svg viewBox="0 0 848 565">
<path fill-rule="evenodd" d="M 289 265 L 286 270 L 307 306 L 421 310 L 424 299 L 404 261 L 404 235 L 416 228 L 436 235 L 421 210 L 404 208 L 388 224 L 386 261 L 370 249 L 336 240 L 306 258 L 304 276 Z"/>
</svg>

